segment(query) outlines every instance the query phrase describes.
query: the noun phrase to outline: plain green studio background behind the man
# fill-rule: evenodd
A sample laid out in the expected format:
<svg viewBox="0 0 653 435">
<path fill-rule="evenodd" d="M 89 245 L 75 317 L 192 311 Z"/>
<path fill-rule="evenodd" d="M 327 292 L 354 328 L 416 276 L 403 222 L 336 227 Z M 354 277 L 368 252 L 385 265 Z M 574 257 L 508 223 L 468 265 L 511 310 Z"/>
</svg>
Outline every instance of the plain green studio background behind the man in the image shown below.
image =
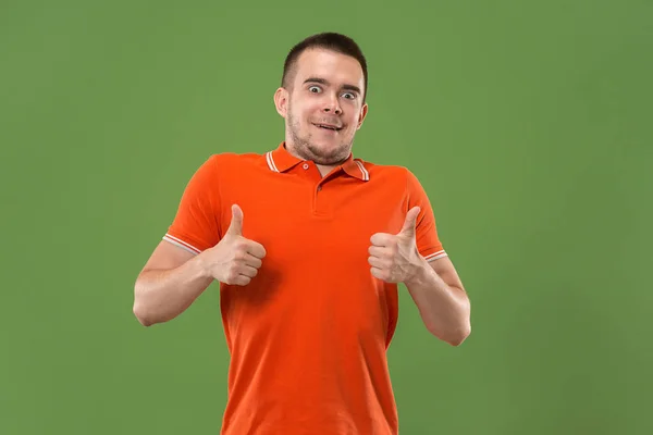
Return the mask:
<svg viewBox="0 0 653 435">
<path fill-rule="evenodd" d="M 401 433 L 653 433 L 653 2 L 401 4 L 0 2 L 1 434 L 218 433 L 218 287 L 146 328 L 133 283 L 208 156 L 283 138 L 322 30 L 369 60 L 356 156 L 418 175 L 472 301 L 453 348 L 402 293 Z"/>
</svg>

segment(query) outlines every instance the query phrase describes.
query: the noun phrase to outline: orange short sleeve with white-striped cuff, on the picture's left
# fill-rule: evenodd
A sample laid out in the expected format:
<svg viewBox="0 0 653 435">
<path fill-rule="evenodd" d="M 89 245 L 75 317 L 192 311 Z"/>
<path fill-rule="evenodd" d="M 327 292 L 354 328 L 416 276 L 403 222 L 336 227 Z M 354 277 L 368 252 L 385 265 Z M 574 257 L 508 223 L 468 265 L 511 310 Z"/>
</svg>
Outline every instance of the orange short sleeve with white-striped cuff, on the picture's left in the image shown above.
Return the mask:
<svg viewBox="0 0 653 435">
<path fill-rule="evenodd" d="M 174 220 L 163 236 L 163 240 L 195 254 L 220 241 L 220 196 L 215 160 L 215 156 L 212 156 L 193 174 Z"/>
</svg>

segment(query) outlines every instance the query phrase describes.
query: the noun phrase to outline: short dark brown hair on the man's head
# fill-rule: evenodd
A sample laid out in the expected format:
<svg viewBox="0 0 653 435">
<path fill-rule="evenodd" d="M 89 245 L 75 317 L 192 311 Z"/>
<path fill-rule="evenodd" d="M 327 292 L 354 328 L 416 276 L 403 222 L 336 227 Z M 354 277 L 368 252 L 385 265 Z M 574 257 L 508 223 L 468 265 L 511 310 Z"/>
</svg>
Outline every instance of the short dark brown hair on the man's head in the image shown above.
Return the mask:
<svg viewBox="0 0 653 435">
<path fill-rule="evenodd" d="M 337 53 L 350 55 L 356 59 L 362 69 L 362 76 L 365 80 L 365 89 L 362 91 L 362 100 L 365 101 L 367 97 L 367 86 L 368 86 L 368 71 L 367 71 L 367 60 L 360 50 L 360 47 L 354 39 L 348 36 L 335 33 L 335 32 L 325 32 L 317 35 L 309 36 L 303 41 L 298 42 L 295 47 L 291 49 L 288 54 L 286 55 L 285 62 L 283 64 L 283 76 L 281 77 L 281 86 L 288 88 L 288 76 L 294 70 L 295 63 L 299 55 L 306 51 L 307 49 L 312 48 L 321 48 L 325 50 L 335 51 Z"/>
</svg>

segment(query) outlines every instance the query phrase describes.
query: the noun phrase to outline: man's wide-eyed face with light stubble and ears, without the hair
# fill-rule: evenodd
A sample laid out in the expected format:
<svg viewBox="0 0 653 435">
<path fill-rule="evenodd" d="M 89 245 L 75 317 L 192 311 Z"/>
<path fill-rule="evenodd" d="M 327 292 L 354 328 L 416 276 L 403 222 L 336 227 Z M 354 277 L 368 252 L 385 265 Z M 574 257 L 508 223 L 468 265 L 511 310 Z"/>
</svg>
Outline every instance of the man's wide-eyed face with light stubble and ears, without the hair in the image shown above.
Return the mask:
<svg viewBox="0 0 653 435">
<path fill-rule="evenodd" d="M 285 117 L 286 145 L 306 160 L 337 164 L 347 159 L 367 114 L 365 77 L 352 57 L 322 49 L 301 53 L 291 89 L 279 89 L 278 111 Z"/>
</svg>

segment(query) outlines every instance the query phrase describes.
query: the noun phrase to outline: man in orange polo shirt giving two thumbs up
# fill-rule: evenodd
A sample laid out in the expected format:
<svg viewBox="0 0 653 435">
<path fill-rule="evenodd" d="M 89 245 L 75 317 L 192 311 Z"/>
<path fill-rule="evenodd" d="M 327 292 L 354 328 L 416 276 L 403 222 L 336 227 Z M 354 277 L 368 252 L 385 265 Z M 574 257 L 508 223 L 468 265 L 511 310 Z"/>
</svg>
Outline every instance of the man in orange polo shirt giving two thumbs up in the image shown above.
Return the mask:
<svg viewBox="0 0 653 435">
<path fill-rule="evenodd" d="M 454 346 L 470 306 L 417 178 L 354 159 L 368 112 L 365 57 L 320 34 L 291 50 L 274 94 L 285 140 L 210 157 L 139 274 L 144 325 L 213 282 L 231 353 L 223 434 L 397 434 L 385 351 L 406 285 Z"/>
</svg>

